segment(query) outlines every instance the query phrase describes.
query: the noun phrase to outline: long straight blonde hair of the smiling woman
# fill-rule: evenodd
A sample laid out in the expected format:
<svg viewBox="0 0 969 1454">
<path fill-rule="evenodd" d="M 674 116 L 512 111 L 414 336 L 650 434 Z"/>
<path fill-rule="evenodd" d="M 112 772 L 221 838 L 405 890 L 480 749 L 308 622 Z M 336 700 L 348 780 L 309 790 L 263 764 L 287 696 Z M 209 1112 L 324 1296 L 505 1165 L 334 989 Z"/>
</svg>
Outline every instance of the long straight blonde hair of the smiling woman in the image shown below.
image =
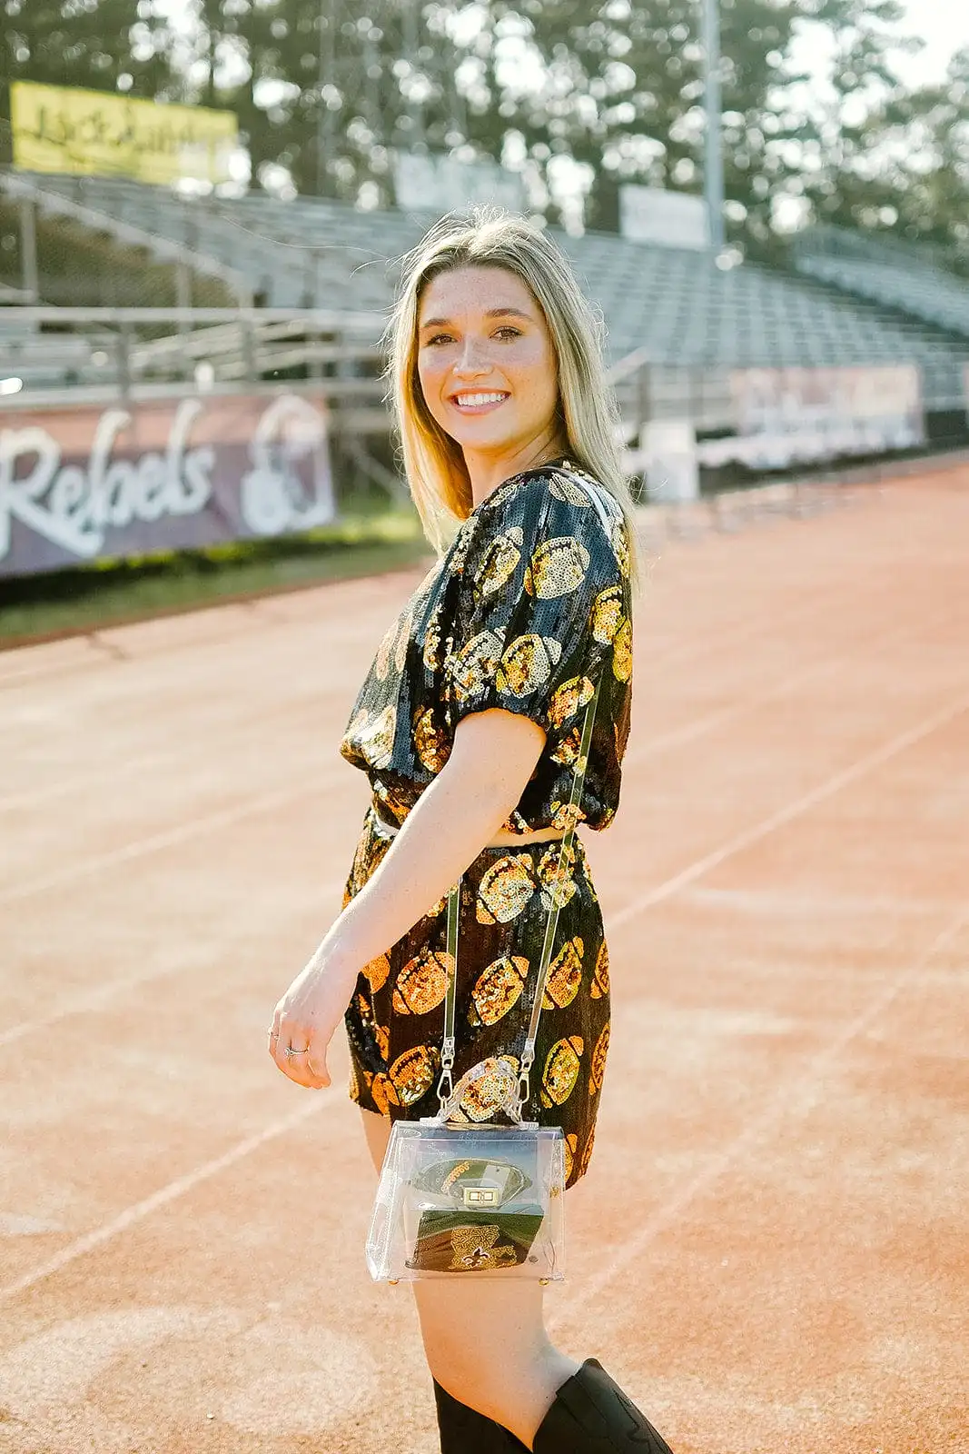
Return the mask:
<svg viewBox="0 0 969 1454">
<path fill-rule="evenodd" d="M 498 208 L 442 217 L 401 259 L 402 278 L 384 343 L 386 403 L 400 438 L 404 474 L 424 535 L 443 554 L 455 521 L 474 507 L 461 445 L 433 419 L 417 374 L 420 301 L 433 278 L 455 268 L 504 268 L 520 278 L 545 314 L 558 361 L 558 420 L 568 455 L 622 507 L 629 535 L 633 592 L 644 580 L 632 491 L 623 474 L 616 425 L 619 409 L 606 382 L 604 324 L 552 238 L 524 218 Z"/>
</svg>

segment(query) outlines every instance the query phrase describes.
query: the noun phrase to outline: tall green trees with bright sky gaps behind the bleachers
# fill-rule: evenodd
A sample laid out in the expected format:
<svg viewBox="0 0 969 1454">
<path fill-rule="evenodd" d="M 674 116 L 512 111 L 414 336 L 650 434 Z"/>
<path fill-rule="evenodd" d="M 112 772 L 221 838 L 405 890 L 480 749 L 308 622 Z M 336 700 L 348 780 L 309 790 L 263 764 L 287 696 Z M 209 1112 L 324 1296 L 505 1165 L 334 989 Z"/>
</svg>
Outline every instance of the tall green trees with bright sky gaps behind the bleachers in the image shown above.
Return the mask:
<svg viewBox="0 0 969 1454">
<path fill-rule="evenodd" d="M 256 185 L 392 201 L 397 147 L 520 167 L 533 205 L 615 227 L 622 182 L 700 192 L 700 0 L 0 0 L 3 81 L 234 109 Z M 969 51 L 944 84 L 896 73 L 898 0 L 721 0 L 728 231 L 770 257 L 806 221 L 969 259 Z M 830 84 L 798 73 L 805 25 Z"/>
</svg>

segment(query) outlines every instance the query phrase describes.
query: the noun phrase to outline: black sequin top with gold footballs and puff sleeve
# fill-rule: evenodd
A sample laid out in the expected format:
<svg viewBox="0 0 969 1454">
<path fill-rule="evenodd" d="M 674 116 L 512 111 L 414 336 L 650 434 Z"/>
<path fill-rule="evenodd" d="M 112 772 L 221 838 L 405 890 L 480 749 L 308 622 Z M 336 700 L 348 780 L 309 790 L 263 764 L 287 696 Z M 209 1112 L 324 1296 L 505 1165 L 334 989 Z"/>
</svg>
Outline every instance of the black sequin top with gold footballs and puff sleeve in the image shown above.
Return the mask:
<svg viewBox="0 0 969 1454">
<path fill-rule="evenodd" d="M 577 811 L 596 830 L 616 814 L 629 737 L 629 537 L 615 496 L 572 461 L 554 461 L 503 481 L 461 523 L 385 632 L 340 755 L 368 774 L 379 817 L 402 823 L 447 762 L 462 717 L 503 707 L 546 731 L 504 829 L 564 830 L 600 673 Z"/>
</svg>

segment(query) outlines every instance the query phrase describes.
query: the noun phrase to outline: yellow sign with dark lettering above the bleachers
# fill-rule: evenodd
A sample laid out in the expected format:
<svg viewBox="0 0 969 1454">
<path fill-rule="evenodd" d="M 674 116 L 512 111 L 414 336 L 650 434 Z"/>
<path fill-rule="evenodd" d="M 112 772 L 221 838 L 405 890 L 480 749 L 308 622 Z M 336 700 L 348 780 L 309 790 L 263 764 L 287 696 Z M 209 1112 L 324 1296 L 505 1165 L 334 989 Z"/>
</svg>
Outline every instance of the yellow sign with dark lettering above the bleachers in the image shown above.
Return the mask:
<svg viewBox="0 0 969 1454">
<path fill-rule="evenodd" d="M 109 92 L 10 83 L 13 164 L 164 185 L 227 182 L 238 145 L 231 111 L 169 106 Z"/>
</svg>

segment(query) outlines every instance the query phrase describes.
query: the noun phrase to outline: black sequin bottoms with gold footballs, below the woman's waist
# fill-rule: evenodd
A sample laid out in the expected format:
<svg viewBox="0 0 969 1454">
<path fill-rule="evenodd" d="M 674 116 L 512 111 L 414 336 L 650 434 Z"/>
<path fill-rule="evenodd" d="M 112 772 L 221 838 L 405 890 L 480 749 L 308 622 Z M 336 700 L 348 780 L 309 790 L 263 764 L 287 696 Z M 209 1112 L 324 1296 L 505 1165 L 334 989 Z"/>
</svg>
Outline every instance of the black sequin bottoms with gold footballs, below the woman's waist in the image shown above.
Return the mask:
<svg viewBox="0 0 969 1454">
<path fill-rule="evenodd" d="M 370 804 L 346 881 L 344 907 L 391 843 Z M 559 852 L 561 840 L 485 848 L 462 875 L 455 1083 L 491 1056 L 506 1057 L 517 1072 Z M 599 897 L 578 835 L 569 852 L 526 1115 L 562 1127 L 571 1186 L 585 1173 L 593 1152 L 610 1000 Z M 346 1012 L 350 1096 L 394 1120 L 415 1121 L 437 1111 L 446 907 L 446 897 L 440 899 L 365 967 Z"/>
</svg>

